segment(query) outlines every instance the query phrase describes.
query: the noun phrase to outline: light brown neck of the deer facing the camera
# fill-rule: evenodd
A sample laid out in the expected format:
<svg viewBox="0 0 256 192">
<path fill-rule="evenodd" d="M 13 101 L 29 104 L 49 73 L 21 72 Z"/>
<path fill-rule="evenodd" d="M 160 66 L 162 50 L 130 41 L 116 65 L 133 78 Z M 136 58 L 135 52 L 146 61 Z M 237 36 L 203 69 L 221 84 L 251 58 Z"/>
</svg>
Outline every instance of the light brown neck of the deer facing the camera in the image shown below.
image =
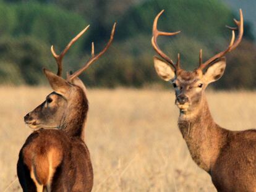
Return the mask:
<svg viewBox="0 0 256 192">
<path fill-rule="evenodd" d="M 193 114 L 180 114 L 178 125 L 192 159 L 199 167 L 210 172 L 224 143 L 224 129 L 211 117 L 204 95 Z"/>
</svg>

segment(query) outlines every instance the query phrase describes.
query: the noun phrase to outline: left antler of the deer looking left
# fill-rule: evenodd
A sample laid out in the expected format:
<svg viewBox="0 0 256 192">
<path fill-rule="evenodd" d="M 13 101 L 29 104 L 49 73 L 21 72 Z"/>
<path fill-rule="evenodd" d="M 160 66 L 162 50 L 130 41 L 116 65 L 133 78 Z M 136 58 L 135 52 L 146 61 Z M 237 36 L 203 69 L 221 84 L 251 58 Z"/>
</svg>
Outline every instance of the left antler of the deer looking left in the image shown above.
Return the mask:
<svg viewBox="0 0 256 192">
<path fill-rule="evenodd" d="M 72 46 L 72 44 L 75 43 L 75 41 L 77 41 L 80 36 L 83 35 L 83 33 L 85 33 L 85 31 L 88 30 L 88 28 L 90 27 L 90 25 L 88 25 L 87 27 L 85 27 L 82 31 L 80 31 L 80 33 L 75 36 L 70 42 L 69 44 L 67 44 L 66 48 L 61 52 L 61 54 L 56 54 L 56 52 L 54 51 L 54 47 L 53 45 L 51 46 L 51 53 L 53 54 L 54 59 L 56 60 L 57 64 L 58 64 L 58 72 L 57 75 L 61 76 L 62 74 L 62 59 L 65 56 L 66 52 L 69 50 L 69 48 Z"/>
</svg>

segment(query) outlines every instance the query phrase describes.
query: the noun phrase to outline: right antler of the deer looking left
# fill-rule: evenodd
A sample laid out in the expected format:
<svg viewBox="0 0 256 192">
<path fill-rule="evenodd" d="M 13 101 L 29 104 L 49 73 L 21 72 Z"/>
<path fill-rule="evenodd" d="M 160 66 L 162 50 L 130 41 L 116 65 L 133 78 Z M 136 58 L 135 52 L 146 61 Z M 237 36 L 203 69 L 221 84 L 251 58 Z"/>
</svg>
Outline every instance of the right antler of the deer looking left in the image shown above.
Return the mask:
<svg viewBox="0 0 256 192">
<path fill-rule="evenodd" d="M 74 72 L 72 75 L 69 76 L 69 78 L 68 78 L 69 81 L 72 80 L 73 78 L 79 76 L 84 70 L 86 70 L 91 64 L 93 64 L 93 62 L 98 60 L 108 50 L 109 46 L 113 42 L 115 30 L 116 30 L 116 23 L 114 23 L 114 25 L 113 25 L 108 44 L 106 44 L 105 48 L 96 55 L 94 55 L 94 43 L 92 43 L 92 57 L 81 69 L 77 70 L 76 72 Z"/>
</svg>

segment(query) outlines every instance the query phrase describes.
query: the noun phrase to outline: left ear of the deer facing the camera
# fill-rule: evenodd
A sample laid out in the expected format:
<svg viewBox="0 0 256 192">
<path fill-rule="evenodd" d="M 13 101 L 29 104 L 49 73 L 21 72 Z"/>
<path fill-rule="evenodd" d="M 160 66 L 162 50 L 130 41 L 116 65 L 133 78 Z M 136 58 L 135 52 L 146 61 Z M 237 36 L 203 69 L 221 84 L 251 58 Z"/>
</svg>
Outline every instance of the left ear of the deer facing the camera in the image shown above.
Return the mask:
<svg viewBox="0 0 256 192">
<path fill-rule="evenodd" d="M 154 65 L 156 73 L 164 81 L 173 80 L 175 78 L 175 72 L 166 62 L 162 61 L 158 57 L 154 57 Z"/>
</svg>

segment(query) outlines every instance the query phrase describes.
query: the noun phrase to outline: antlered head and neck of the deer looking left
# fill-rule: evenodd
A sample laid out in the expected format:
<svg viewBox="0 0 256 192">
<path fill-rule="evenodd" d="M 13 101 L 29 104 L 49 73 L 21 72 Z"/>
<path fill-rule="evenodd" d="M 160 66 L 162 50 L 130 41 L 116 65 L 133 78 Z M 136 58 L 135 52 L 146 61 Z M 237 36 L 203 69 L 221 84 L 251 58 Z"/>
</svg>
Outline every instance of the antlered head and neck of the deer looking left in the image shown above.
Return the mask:
<svg viewBox="0 0 256 192">
<path fill-rule="evenodd" d="M 56 54 L 53 46 L 51 46 L 51 52 L 58 64 L 58 72 L 57 75 L 46 69 L 44 69 L 44 72 L 51 88 L 53 88 L 53 92 L 46 96 L 45 101 L 40 106 L 25 115 L 24 121 L 30 128 L 35 130 L 39 128 L 60 128 L 72 136 L 80 136 L 82 134 L 81 127 L 83 127 L 87 117 L 88 101 L 85 94 L 85 85 L 83 85 L 78 76 L 108 50 L 114 38 L 116 23 L 114 23 L 110 39 L 105 48 L 95 55 L 94 44 L 92 43 L 92 57 L 81 69 L 67 75 L 67 79 L 64 79 L 61 77 L 62 59 L 70 46 L 88 28 L 89 26 L 75 36 L 59 55 Z"/>
</svg>

